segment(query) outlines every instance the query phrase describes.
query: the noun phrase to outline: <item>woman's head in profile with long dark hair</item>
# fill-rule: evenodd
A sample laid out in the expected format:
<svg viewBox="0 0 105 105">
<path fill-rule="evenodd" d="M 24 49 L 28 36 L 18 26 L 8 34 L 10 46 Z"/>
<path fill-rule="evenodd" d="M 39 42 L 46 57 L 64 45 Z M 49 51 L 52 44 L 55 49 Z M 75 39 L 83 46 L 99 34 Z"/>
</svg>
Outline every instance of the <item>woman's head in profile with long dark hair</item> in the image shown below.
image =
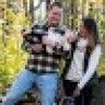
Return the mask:
<svg viewBox="0 0 105 105">
<path fill-rule="evenodd" d="M 82 36 L 93 38 L 92 40 L 94 44 L 98 42 L 98 31 L 97 31 L 97 25 L 94 19 L 84 18 L 82 20 L 81 34 Z"/>
</svg>

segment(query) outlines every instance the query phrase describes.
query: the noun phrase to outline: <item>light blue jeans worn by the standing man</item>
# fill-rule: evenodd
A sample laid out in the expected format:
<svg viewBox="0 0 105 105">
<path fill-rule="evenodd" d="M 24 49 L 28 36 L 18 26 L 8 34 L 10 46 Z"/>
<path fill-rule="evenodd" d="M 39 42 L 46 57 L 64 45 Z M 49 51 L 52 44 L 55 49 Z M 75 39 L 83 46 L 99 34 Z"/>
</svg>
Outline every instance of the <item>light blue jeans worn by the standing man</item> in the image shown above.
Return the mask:
<svg viewBox="0 0 105 105">
<path fill-rule="evenodd" d="M 57 95 L 58 74 L 37 74 L 28 70 L 23 70 L 19 73 L 19 77 L 7 93 L 7 100 L 3 101 L 2 105 L 15 105 L 23 94 L 31 90 L 34 83 L 39 89 L 42 105 L 56 105 L 55 97 Z"/>
</svg>

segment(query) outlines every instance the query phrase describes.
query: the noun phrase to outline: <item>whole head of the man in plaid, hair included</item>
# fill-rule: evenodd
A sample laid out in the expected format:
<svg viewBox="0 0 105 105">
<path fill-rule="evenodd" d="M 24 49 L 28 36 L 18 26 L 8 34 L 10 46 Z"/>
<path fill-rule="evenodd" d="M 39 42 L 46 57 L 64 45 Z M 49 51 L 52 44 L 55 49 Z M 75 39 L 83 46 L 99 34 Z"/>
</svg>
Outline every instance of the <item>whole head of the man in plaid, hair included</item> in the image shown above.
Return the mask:
<svg viewBox="0 0 105 105">
<path fill-rule="evenodd" d="M 48 24 L 57 26 L 62 18 L 62 7 L 59 2 L 54 2 L 48 7 Z"/>
</svg>

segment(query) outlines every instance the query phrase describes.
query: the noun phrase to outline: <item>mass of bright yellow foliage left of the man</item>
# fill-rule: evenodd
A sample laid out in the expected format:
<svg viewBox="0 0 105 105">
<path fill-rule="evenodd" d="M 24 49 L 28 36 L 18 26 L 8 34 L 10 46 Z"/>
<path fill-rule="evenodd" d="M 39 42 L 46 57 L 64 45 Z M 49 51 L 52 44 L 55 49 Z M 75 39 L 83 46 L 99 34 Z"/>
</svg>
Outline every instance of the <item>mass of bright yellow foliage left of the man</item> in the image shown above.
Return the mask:
<svg viewBox="0 0 105 105">
<path fill-rule="evenodd" d="M 0 85 L 12 81 L 14 75 L 24 68 L 27 54 L 21 49 L 22 28 L 28 27 L 30 20 L 24 13 L 14 13 L 13 9 L 5 9 L 4 31 L 0 27 Z M 8 33 L 4 33 L 5 30 Z"/>
</svg>

